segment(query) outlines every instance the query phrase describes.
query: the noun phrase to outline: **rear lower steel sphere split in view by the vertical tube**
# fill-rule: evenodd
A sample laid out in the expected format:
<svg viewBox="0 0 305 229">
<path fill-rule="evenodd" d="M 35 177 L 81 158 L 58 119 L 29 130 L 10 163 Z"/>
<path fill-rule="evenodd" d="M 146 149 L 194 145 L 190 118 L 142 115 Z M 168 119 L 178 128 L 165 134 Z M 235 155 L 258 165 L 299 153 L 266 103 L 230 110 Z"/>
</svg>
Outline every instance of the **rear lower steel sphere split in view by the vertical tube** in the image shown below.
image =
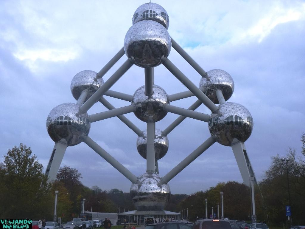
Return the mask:
<svg viewBox="0 0 305 229">
<path fill-rule="evenodd" d="M 163 158 L 167 153 L 169 142 L 167 136 L 165 136 L 160 129 L 155 131 L 155 158 L 159 160 Z M 142 158 L 146 159 L 146 147 L 147 147 L 147 130 L 142 132 L 141 136 L 137 139 L 137 149 Z"/>
</svg>

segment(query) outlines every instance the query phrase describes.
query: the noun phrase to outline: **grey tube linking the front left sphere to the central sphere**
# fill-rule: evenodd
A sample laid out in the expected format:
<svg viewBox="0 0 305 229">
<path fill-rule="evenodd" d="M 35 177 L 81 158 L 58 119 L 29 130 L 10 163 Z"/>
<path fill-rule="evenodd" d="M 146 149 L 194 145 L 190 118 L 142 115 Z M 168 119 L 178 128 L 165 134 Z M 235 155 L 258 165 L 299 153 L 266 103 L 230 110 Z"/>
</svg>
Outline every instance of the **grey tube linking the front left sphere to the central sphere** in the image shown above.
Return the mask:
<svg viewBox="0 0 305 229">
<path fill-rule="evenodd" d="M 97 114 L 89 115 L 90 122 L 101 121 L 107 118 L 116 117 L 118 115 L 124 115 L 135 111 L 135 105 L 131 104 L 125 107 L 116 108 L 109 111 L 100 112 Z"/>
</svg>

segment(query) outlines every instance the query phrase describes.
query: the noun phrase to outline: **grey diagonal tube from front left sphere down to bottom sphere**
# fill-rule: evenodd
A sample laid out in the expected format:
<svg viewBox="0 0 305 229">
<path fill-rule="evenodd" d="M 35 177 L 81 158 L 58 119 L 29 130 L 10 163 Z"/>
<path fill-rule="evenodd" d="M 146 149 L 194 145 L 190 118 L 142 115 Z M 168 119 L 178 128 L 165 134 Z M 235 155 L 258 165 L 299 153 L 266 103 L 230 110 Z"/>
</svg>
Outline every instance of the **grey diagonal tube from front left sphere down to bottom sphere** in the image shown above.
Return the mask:
<svg viewBox="0 0 305 229">
<path fill-rule="evenodd" d="M 128 180 L 132 183 L 136 182 L 137 177 L 131 173 L 124 165 L 118 162 L 113 156 L 107 153 L 102 147 L 100 147 L 95 141 L 93 141 L 89 136 L 86 136 L 84 143 L 87 144 L 91 149 L 93 149 L 97 154 L 104 158 L 110 165 L 122 173 Z"/>
</svg>

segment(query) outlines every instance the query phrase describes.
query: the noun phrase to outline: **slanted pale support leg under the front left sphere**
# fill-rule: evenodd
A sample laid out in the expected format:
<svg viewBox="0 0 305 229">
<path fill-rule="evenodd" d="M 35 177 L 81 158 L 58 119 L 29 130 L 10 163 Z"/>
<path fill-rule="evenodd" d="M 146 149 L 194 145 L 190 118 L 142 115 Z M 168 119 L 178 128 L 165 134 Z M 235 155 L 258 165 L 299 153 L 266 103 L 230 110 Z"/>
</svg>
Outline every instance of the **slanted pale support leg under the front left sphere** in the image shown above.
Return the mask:
<svg viewBox="0 0 305 229">
<path fill-rule="evenodd" d="M 45 175 L 48 176 L 48 182 L 55 180 L 60 164 L 63 161 L 63 155 L 65 154 L 66 149 L 67 145 L 61 142 L 55 143 L 47 169 L 45 170 Z"/>
</svg>

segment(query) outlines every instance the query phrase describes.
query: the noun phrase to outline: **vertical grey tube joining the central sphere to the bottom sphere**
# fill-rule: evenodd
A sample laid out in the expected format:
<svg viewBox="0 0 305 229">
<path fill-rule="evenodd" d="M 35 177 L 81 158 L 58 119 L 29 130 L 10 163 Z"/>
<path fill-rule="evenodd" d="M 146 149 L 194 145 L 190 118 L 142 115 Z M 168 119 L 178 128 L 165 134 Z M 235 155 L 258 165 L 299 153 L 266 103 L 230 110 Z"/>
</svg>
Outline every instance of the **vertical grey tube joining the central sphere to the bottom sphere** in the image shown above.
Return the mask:
<svg viewBox="0 0 305 229">
<path fill-rule="evenodd" d="M 155 122 L 147 122 L 146 173 L 155 172 Z"/>
</svg>

